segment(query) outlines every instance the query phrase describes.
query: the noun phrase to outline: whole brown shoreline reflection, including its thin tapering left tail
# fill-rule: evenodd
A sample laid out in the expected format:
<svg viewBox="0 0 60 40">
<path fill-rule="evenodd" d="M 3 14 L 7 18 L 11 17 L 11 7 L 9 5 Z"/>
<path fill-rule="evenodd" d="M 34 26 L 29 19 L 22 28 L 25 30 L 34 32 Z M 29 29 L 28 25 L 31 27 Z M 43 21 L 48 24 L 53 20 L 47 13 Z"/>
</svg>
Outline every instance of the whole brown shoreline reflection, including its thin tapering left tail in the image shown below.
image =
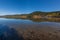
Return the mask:
<svg viewBox="0 0 60 40">
<path fill-rule="evenodd" d="M 14 18 L 14 19 L 23 19 L 23 20 L 31 20 L 33 22 L 60 22 L 60 18 Z"/>
</svg>

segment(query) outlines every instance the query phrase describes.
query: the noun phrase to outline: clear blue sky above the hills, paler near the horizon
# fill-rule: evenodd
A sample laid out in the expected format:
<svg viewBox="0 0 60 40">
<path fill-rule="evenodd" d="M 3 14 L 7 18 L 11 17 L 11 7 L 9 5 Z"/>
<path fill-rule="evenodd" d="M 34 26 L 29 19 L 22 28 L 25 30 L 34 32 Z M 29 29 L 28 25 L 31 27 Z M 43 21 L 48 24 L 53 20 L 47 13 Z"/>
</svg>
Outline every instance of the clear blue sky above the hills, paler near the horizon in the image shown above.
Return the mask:
<svg viewBox="0 0 60 40">
<path fill-rule="evenodd" d="M 0 15 L 60 11 L 60 0 L 0 0 Z"/>
</svg>

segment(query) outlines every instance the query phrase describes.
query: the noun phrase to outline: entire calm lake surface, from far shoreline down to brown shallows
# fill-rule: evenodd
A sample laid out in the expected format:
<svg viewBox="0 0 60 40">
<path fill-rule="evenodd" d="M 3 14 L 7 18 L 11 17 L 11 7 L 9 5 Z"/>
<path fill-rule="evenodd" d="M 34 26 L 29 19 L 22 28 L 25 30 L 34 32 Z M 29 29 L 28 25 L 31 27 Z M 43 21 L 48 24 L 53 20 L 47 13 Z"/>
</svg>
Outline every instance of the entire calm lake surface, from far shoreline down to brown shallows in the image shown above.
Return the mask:
<svg viewBox="0 0 60 40">
<path fill-rule="evenodd" d="M 58 19 L 3 18 L 0 24 L 5 25 L 0 25 L 0 40 L 60 40 L 60 23 L 58 22 Z M 20 33 L 19 36 L 18 31 L 23 36 Z"/>
</svg>

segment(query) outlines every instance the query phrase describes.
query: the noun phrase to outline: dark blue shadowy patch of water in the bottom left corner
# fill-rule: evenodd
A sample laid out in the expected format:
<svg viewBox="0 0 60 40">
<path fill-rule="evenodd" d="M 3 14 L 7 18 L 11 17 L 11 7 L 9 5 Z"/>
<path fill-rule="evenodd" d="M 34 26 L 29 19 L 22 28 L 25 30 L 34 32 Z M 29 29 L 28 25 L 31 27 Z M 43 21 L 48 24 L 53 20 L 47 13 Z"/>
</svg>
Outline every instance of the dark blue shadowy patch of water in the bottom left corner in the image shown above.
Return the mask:
<svg viewBox="0 0 60 40">
<path fill-rule="evenodd" d="M 0 40 L 23 40 L 23 37 L 15 29 L 0 25 Z"/>
</svg>

